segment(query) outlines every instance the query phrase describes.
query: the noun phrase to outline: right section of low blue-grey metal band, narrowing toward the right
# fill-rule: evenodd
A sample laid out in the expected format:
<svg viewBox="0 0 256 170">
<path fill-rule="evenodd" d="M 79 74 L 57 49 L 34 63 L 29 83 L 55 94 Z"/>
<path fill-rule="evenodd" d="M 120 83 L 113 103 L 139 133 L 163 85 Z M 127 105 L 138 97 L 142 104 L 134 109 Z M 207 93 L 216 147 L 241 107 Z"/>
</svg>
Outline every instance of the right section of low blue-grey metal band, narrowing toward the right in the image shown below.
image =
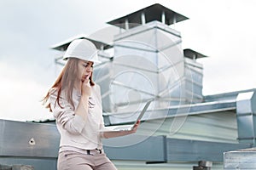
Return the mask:
<svg viewBox="0 0 256 170">
<path fill-rule="evenodd" d="M 185 139 L 167 139 L 168 161 L 223 161 L 223 153 L 249 147 L 249 144 L 228 144 Z"/>
</svg>

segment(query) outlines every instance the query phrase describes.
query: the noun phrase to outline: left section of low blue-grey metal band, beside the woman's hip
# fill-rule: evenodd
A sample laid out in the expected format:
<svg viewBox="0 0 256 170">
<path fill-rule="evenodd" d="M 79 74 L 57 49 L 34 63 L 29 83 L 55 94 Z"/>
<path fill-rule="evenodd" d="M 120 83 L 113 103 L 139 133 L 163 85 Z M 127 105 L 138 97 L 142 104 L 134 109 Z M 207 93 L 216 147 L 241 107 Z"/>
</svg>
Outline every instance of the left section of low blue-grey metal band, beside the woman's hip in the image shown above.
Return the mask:
<svg viewBox="0 0 256 170">
<path fill-rule="evenodd" d="M 118 147 L 119 144 L 125 144 L 127 141 L 129 141 L 127 145 Z M 104 150 L 113 160 L 166 161 L 164 136 L 144 138 L 143 136 L 131 135 L 105 139 L 104 145 Z"/>
</svg>

